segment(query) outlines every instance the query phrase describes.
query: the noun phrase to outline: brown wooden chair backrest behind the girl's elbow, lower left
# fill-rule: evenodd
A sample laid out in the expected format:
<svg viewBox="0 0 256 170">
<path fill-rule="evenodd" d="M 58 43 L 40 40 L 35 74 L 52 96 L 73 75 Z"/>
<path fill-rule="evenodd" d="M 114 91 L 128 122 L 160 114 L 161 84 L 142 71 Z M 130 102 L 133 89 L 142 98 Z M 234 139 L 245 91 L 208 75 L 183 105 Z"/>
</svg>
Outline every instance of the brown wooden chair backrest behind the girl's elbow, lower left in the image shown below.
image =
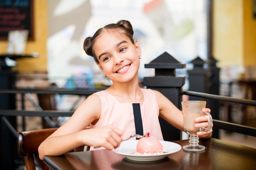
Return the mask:
<svg viewBox="0 0 256 170">
<path fill-rule="evenodd" d="M 36 170 L 34 156 L 42 170 L 49 170 L 43 160 L 39 159 L 38 147 L 55 130 L 57 130 L 57 128 L 18 132 L 20 156 L 24 157 L 27 170 Z"/>
</svg>

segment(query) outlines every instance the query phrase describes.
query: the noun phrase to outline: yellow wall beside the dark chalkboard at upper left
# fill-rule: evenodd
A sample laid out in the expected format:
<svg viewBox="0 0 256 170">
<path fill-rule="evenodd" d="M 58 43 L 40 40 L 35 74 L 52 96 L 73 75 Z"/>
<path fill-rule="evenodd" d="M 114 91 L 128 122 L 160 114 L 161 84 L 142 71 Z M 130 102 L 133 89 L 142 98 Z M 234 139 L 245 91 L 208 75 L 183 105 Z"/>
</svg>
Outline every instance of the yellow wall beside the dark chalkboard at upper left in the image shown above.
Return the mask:
<svg viewBox="0 0 256 170">
<path fill-rule="evenodd" d="M 38 58 L 17 59 L 19 73 L 46 72 L 47 71 L 47 0 L 34 0 L 34 41 L 28 41 L 26 54 L 39 53 Z M 6 53 L 7 41 L 0 41 L 0 53 Z"/>
</svg>

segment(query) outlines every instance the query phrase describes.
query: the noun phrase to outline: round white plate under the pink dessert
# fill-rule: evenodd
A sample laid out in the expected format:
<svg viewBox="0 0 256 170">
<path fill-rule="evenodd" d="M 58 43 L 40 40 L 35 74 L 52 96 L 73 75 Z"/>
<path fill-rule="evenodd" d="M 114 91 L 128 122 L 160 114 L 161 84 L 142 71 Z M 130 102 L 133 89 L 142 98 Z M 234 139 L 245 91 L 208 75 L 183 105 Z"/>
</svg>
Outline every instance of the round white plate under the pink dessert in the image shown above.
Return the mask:
<svg viewBox="0 0 256 170">
<path fill-rule="evenodd" d="M 136 155 L 133 153 L 136 151 L 138 141 L 139 140 L 122 141 L 120 146 L 112 151 L 119 155 L 124 155 L 127 159 L 132 161 L 157 161 L 181 150 L 181 146 L 179 144 L 169 141 L 159 141 L 163 145 L 164 153 L 153 155 Z"/>
</svg>

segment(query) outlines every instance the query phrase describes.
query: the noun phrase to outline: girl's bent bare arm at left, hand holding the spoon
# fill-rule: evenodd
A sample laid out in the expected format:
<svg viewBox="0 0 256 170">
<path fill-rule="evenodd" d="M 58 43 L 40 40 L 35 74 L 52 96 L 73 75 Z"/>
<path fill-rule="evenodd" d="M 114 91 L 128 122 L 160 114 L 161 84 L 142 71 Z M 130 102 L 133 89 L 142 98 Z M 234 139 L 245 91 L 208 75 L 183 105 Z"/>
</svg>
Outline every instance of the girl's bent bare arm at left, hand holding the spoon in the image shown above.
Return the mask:
<svg viewBox="0 0 256 170">
<path fill-rule="evenodd" d="M 122 131 L 114 126 L 86 129 L 101 115 L 101 100 L 98 95 L 90 95 L 74 112 L 72 117 L 58 128 L 38 147 L 39 157 L 62 155 L 74 148 L 104 146 L 111 150 L 121 143 Z"/>
</svg>

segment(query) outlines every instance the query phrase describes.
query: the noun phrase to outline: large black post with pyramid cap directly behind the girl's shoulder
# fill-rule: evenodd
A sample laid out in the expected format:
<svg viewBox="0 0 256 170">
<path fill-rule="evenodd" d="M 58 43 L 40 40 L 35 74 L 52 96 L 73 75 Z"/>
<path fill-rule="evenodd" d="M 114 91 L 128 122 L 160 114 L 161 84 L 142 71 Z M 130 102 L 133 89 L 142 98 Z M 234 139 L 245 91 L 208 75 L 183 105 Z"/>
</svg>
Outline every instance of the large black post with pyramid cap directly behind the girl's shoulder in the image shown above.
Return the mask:
<svg viewBox="0 0 256 170">
<path fill-rule="evenodd" d="M 173 56 L 164 52 L 149 64 L 145 64 L 145 68 L 155 68 L 155 77 L 144 77 L 144 86 L 161 92 L 177 108 L 181 108 L 181 92 L 182 86 L 185 83 L 185 76 L 176 77 L 175 69 L 184 67 L 185 64 L 181 64 Z M 180 130 L 161 117 L 159 117 L 159 121 L 164 140 L 174 141 L 181 139 Z"/>
</svg>

